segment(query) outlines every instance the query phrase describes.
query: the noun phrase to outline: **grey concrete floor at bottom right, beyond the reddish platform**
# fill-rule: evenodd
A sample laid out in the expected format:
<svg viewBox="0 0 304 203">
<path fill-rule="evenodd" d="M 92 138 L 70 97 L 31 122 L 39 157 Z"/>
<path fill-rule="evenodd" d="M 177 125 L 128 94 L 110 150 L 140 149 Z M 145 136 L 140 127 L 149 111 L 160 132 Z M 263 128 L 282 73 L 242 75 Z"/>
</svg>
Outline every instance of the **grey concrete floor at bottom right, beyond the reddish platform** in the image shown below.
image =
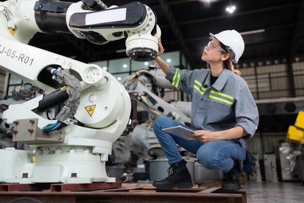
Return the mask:
<svg viewBox="0 0 304 203">
<path fill-rule="evenodd" d="M 301 182 L 248 182 L 242 184 L 247 203 L 304 203 Z"/>
</svg>

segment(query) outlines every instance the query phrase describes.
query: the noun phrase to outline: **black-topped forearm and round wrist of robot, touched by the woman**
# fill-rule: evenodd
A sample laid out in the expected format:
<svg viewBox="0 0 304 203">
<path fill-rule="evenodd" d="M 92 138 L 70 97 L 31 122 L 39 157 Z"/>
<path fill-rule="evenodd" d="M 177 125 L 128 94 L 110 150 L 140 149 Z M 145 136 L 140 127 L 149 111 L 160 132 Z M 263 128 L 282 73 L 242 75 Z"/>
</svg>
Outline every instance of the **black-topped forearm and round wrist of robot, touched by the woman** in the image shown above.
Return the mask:
<svg viewBox="0 0 304 203">
<path fill-rule="evenodd" d="M 151 61 L 158 54 L 157 37 L 161 31 L 156 24 L 156 15 L 140 2 L 74 13 L 69 18 L 69 30 L 95 44 L 127 37 L 126 54 L 135 61 Z"/>
</svg>

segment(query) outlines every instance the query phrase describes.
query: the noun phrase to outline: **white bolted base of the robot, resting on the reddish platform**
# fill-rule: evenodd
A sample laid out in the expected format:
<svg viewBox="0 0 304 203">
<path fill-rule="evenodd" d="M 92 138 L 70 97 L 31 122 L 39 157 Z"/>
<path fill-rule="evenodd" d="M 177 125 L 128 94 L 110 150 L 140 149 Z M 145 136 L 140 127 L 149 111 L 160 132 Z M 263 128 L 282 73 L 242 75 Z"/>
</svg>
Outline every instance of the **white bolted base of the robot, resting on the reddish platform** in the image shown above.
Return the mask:
<svg viewBox="0 0 304 203">
<path fill-rule="evenodd" d="M 92 148 L 62 146 L 34 152 L 0 149 L 0 183 L 67 183 L 116 182 L 106 174 L 105 161 Z M 106 154 L 107 157 L 107 154 Z M 33 163 L 34 162 L 34 163 Z"/>
</svg>

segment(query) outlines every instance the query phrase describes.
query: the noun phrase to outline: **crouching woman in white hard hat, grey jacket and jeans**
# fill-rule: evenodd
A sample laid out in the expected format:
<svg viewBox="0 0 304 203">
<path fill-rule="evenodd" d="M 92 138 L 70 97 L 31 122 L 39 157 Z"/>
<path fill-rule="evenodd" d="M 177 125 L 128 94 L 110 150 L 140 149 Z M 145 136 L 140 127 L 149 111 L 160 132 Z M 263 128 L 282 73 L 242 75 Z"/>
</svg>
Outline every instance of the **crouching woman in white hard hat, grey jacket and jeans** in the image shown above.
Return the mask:
<svg viewBox="0 0 304 203">
<path fill-rule="evenodd" d="M 194 140 L 187 140 L 164 128 L 184 126 L 167 117 L 154 121 L 154 133 L 169 159 L 169 177 L 156 180 L 153 186 L 162 189 L 192 187 L 186 161 L 177 144 L 196 154 L 207 169 L 221 170 L 222 188 L 240 189 L 241 161 L 246 158 L 246 142 L 253 137 L 258 125 L 258 111 L 247 83 L 234 69 L 233 63 L 244 52 L 244 41 L 235 30 L 213 35 L 202 55 L 210 70 L 177 70 L 159 56 L 164 53 L 160 38 L 159 55 L 155 58 L 166 78 L 179 90 L 192 95 L 191 125 Z M 186 126 L 184 126 L 186 127 Z M 188 128 L 188 127 L 186 127 Z"/>
</svg>

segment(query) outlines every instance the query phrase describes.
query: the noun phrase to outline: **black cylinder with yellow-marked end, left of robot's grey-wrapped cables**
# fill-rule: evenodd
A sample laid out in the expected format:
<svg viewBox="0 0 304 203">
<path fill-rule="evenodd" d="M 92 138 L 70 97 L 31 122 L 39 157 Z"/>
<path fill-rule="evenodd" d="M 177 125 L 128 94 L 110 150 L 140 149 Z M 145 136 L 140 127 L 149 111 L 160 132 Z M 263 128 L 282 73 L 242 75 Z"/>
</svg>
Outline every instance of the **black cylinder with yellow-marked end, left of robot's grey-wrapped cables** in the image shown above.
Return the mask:
<svg viewBox="0 0 304 203">
<path fill-rule="evenodd" d="M 38 111 L 48 111 L 49 109 L 64 103 L 68 99 L 68 92 L 66 88 L 59 88 L 54 92 L 48 93 L 43 96 L 43 99 L 39 101 Z"/>
</svg>

